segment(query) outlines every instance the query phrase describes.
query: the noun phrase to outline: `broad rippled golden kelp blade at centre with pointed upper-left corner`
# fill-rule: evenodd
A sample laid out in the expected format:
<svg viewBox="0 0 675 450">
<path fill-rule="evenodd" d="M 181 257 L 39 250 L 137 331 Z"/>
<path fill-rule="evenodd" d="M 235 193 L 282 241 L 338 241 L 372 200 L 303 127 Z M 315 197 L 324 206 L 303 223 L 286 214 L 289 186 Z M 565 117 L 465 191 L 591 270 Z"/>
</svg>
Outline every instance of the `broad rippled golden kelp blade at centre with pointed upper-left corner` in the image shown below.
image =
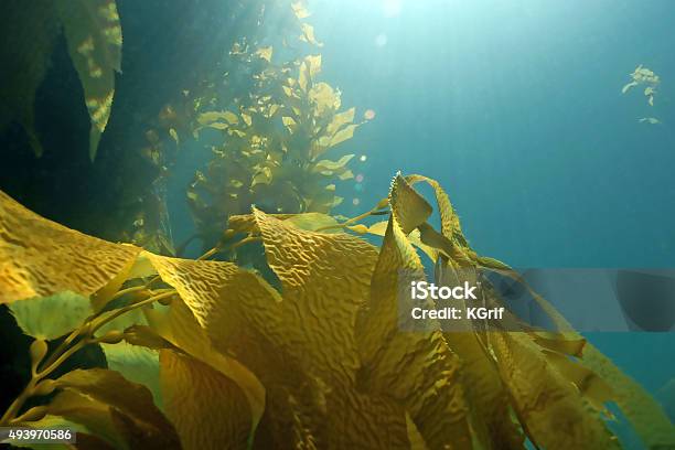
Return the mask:
<svg viewBox="0 0 675 450">
<path fill-rule="evenodd" d="M 282 286 L 280 344 L 310 373 L 338 378 L 331 385 L 347 384 L 357 368 L 353 323 L 367 297 L 375 248 L 351 235 L 306 232 L 254 213 L 268 265 Z"/>
</svg>

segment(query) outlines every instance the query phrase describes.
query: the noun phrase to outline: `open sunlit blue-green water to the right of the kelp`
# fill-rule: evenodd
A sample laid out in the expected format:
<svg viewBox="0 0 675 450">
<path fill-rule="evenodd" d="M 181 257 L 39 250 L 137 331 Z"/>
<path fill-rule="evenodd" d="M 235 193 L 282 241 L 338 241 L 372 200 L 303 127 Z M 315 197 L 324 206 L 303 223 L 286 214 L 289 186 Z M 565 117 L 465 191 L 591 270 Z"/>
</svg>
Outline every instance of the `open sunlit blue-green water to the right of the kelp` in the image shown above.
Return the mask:
<svg viewBox="0 0 675 450">
<path fill-rule="evenodd" d="M 376 113 L 346 144 L 368 157 L 347 204 L 424 173 L 513 266 L 673 267 L 672 1 L 312 4 L 324 77 Z M 621 94 L 639 64 L 662 77 L 653 107 Z M 589 338 L 651 392 L 675 376 L 675 333 Z"/>
</svg>

